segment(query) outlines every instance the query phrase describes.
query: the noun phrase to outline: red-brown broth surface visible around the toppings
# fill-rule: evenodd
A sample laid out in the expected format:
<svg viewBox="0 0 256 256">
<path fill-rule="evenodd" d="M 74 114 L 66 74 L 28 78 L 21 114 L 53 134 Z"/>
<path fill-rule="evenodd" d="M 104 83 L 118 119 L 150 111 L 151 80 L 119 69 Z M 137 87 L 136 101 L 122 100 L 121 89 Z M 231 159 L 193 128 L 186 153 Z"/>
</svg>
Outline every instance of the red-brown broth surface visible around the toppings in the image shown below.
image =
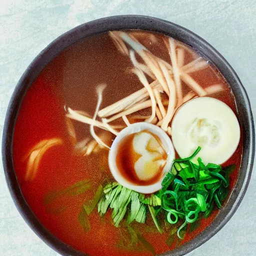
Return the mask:
<svg viewBox="0 0 256 256">
<path fill-rule="evenodd" d="M 155 55 L 169 61 L 168 52 L 162 43 L 163 35 L 137 32 L 136 37 Z M 194 53 L 193 53 L 194 54 Z M 191 61 L 193 54 L 185 55 L 185 63 Z M 97 186 L 108 177 L 113 180 L 108 168 L 108 151 L 102 149 L 89 156 L 74 154 L 65 123 L 65 108 L 81 109 L 93 114 L 96 105 L 95 86 L 106 83 L 102 106 L 138 90 L 142 87 L 137 77 L 129 69 L 129 59 L 118 52 L 107 34 L 86 38 L 70 46 L 56 56 L 39 74 L 28 89 L 16 120 L 13 139 L 13 160 L 22 193 L 31 210 L 40 222 L 56 237 L 77 250 L 89 255 L 150 255 L 148 251 L 122 250 L 116 244 L 126 234 L 123 224 L 116 228 L 111 221 L 110 210 L 100 217 L 96 209 L 89 215 L 90 231 L 85 232 L 78 221 L 83 202 L 93 198 Z M 236 112 L 235 101 L 230 87 L 214 67 L 208 66 L 191 76 L 202 86 L 221 83 L 224 90 L 212 96 L 224 101 Z M 182 83 L 185 93 L 187 86 Z M 86 124 L 73 121 L 78 139 L 89 136 Z M 96 129 L 97 131 L 97 129 Z M 42 139 L 61 138 L 61 145 L 52 146 L 44 154 L 32 181 L 25 180 L 27 161 L 24 156 Z M 242 140 L 242 139 L 241 139 Z M 237 168 L 230 176 L 230 191 L 233 188 L 241 160 L 242 142 L 231 158 L 224 164 L 235 163 Z M 77 196 L 62 196 L 53 203 L 45 205 L 45 195 L 63 189 L 83 179 L 90 179 L 92 189 Z M 152 244 L 157 254 L 173 249 L 198 235 L 210 225 L 218 214 L 215 209 L 211 215 L 202 219 L 200 226 L 186 232 L 181 241 L 177 237 L 168 247 L 168 232 L 160 234 L 153 227 L 147 215 L 145 224 L 133 225 Z"/>
</svg>

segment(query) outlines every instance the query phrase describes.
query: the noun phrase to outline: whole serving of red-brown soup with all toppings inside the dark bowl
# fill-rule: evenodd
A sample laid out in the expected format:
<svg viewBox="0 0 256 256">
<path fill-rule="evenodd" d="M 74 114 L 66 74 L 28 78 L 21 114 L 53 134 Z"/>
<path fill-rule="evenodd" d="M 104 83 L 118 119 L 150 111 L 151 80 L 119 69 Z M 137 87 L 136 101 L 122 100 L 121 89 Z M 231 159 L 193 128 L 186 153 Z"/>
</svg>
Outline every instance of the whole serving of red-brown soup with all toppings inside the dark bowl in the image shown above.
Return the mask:
<svg viewBox="0 0 256 256">
<path fill-rule="evenodd" d="M 160 254 L 200 234 L 228 198 L 242 153 L 236 114 L 225 79 L 189 46 L 145 31 L 95 35 L 57 55 L 27 90 L 14 131 L 16 175 L 40 222 L 73 248 L 92 256 Z M 118 144 L 118 183 L 112 145 L 145 122 L 168 135 L 175 157 L 165 172 L 152 170 L 148 156 L 145 176 L 135 175 L 143 153 L 126 157 L 135 148 L 130 132 Z M 141 192 L 155 184 L 157 191 Z"/>
</svg>

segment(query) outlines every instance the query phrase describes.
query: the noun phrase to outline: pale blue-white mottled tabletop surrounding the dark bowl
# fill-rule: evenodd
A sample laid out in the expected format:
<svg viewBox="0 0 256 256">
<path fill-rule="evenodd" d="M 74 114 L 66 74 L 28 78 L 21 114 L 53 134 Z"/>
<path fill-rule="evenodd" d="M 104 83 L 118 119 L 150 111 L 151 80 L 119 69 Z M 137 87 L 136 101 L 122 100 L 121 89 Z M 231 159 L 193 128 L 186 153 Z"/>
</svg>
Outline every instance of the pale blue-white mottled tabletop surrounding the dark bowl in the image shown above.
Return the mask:
<svg viewBox="0 0 256 256">
<path fill-rule="evenodd" d="M 255 0 L 0 0 L 0 131 L 14 86 L 49 42 L 83 22 L 117 14 L 143 14 L 180 24 L 212 44 L 232 65 L 256 110 Z M 256 172 L 231 220 L 188 255 L 256 254 Z M 16 210 L 0 165 L 0 255 L 58 255 Z"/>
</svg>

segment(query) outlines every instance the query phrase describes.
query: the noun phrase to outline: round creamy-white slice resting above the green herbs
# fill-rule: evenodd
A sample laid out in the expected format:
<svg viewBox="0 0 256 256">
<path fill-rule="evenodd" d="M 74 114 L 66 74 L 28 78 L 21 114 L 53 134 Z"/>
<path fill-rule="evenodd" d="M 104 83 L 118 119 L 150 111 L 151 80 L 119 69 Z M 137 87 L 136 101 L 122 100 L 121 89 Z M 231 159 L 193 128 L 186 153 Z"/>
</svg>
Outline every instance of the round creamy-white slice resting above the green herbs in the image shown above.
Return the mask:
<svg viewBox="0 0 256 256">
<path fill-rule="evenodd" d="M 204 163 L 221 164 L 236 150 L 240 126 L 232 109 L 211 97 L 198 97 L 183 104 L 173 117 L 171 138 L 180 157 L 196 155 Z"/>
</svg>

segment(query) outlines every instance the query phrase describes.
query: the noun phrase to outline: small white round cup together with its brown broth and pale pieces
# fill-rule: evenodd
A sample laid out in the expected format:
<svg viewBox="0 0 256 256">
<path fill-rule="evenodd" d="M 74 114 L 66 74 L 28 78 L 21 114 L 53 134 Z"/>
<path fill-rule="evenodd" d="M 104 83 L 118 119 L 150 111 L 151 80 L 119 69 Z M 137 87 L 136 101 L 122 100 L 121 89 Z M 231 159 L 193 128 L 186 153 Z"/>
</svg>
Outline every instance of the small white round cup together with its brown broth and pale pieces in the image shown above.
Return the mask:
<svg viewBox="0 0 256 256">
<path fill-rule="evenodd" d="M 161 188 L 173 159 L 174 148 L 165 131 L 138 122 L 118 133 L 110 148 L 108 165 L 121 185 L 137 192 L 153 193 Z"/>
</svg>

